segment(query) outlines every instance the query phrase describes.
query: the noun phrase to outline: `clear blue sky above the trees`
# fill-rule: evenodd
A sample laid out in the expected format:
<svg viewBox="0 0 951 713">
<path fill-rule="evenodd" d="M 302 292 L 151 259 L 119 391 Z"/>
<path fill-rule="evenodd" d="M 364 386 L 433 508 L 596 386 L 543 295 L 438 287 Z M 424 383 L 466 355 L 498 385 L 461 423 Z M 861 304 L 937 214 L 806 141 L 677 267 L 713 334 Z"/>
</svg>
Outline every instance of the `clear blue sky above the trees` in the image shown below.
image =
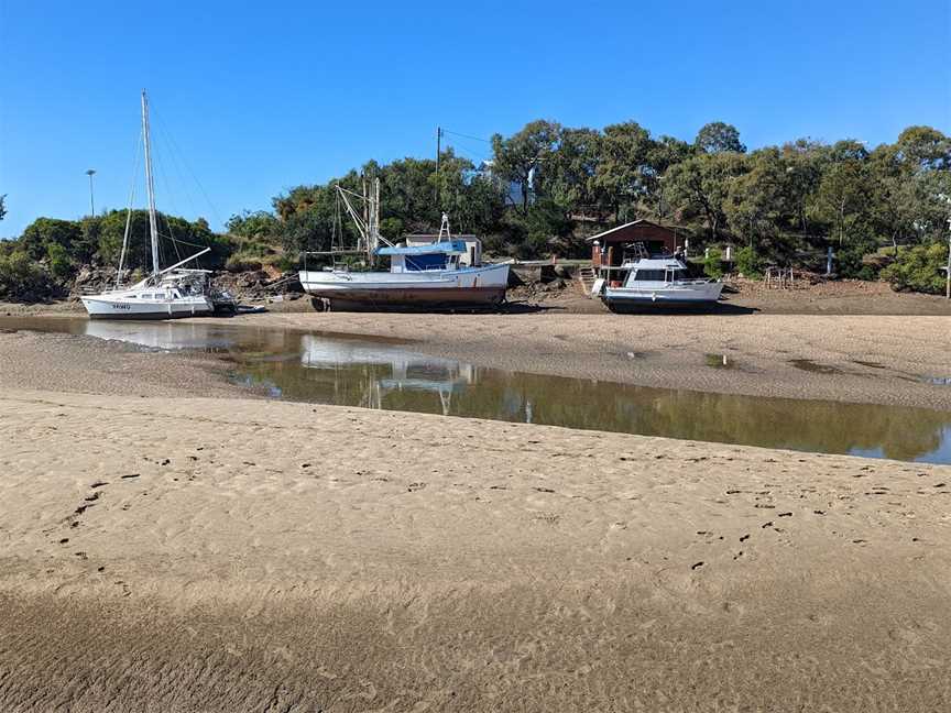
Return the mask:
<svg viewBox="0 0 951 713">
<path fill-rule="evenodd" d="M 143 87 L 160 209 L 215 228 L 368 158 L 431 155 L 437 124 L 692 140 L 722 120 L 751 147 L 951 130 L 951 0 L 0 0 L 0 237 L 87 213 L 90 167 L 97 210 L 125 206 Z"/>
</svg>

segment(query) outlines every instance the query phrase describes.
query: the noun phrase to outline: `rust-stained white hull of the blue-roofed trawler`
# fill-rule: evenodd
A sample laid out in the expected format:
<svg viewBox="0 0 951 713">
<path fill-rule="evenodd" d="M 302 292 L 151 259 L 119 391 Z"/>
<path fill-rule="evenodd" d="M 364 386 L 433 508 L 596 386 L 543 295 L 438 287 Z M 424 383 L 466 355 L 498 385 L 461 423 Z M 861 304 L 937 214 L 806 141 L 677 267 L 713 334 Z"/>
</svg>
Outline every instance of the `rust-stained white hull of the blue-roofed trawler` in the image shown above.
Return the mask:
<svg viewBox="0 0 951 713">
<path fill-rule="evenodd" d="M 302 271 L 300 284 L 335 309 L 492 307 L 505 299 L 509 265 L 418 273 Z"/>
</svg>

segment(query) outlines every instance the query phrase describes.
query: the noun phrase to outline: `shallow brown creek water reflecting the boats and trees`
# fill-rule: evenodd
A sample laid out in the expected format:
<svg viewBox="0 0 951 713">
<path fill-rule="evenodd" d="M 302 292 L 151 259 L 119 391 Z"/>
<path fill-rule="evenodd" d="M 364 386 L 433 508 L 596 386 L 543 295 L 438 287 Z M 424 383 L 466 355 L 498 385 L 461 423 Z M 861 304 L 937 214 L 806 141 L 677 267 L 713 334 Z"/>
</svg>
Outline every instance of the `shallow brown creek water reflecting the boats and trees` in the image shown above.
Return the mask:
<svg viewBox="0 0 951 713">
<path fill-rule="evenodd" d="M 227 323 L 11 317 L 0 318 L 0 328 L 220 354 L 236 383 L 289 401 L 951 463 L 951 413 L 927 408 L 509 372 L 420 354 L 411 343 Z"/>
</svg>

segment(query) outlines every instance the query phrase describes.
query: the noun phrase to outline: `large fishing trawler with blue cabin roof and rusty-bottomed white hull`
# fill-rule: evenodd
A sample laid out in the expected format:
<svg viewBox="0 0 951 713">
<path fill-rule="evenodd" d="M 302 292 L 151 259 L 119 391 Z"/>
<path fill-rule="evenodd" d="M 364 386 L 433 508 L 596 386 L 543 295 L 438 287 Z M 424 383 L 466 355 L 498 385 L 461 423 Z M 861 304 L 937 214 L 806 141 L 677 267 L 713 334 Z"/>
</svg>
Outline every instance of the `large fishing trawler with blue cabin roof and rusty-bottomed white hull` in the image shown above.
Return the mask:
<svg viewBox="0 0 951 713">
<path fill-rule="evenodd" d="M 374 308 L 384 306 L 451 307 L 498 306 L 505 299 L 509 285 L 509 265 L 481 264 L 479 250 L 470 249 L 466 241 L 453 239 L 449 218 L 442 222 L 436 240 L 424 244 L 394 244 L 380 234 L 380 179 L 369 195 L 363 196 L 337 185 L 338 216 L 342 202 L 359 233 L 356 249 L 331 245 L 321 254 L 335 260 L 323 270 L 302 270 L 300 284 L 317 298 L 328 301 L 330 308 Z M 351 197 L 364 201 L 359 215 Z M 339 218 L 334 234 L 338 234 Z M 342 229 L 339 231 L 342 241 Z M 336 240 L 336 238 L 335 238 Z M 351 270 L 341 260 L 346 254 L 363 254 L 367 264 L 376 257 L 390 259 L 389 272 L 360 272 Z"/>
</svg>

